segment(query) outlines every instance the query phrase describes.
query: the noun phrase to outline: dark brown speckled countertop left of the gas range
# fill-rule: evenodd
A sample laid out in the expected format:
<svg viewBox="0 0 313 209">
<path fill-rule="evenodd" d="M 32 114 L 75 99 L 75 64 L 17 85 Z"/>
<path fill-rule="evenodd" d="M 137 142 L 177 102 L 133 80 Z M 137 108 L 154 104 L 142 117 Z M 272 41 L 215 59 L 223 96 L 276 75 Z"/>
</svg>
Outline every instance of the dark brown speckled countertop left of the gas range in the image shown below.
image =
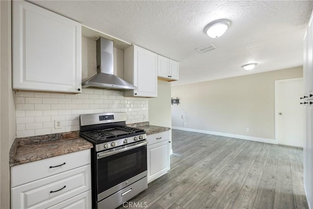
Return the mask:
<svg viewBox="0 0 313 209">
<path fill-rule="evenodd" d="M 78 131 L 16 138 L 10 149 L 10 167 L 92 148 Z"/>
</svg>

